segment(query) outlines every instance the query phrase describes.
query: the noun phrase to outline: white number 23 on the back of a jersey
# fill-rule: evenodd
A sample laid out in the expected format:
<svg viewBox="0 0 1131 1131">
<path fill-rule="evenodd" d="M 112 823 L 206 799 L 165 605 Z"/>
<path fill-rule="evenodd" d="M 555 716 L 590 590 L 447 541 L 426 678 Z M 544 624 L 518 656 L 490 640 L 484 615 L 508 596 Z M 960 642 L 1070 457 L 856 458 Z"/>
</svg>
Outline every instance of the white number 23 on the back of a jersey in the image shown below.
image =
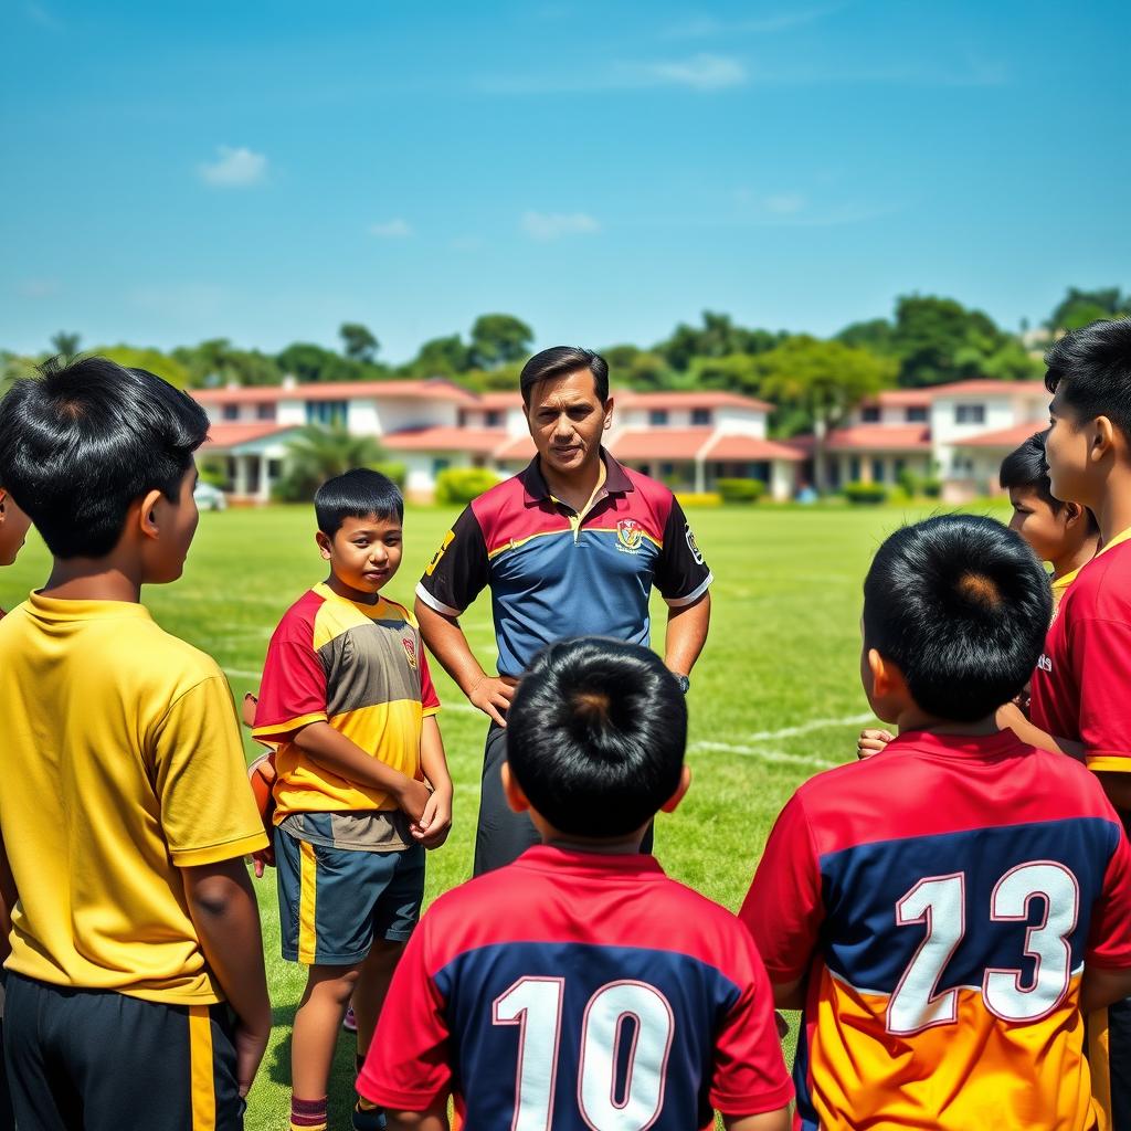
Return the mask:
<svg viewBox="0 0 1131 1131">
<path fill-rule="evenodd" d="M 896 904 L 896 923 L 926 924 L 926 936 L 904 970 L 888 1002 L 888 1031 L 908 1036 L 932 1025 L 958 1019 L 958 990 L 938 992 L 943 969 L 966 934 L 966 878 L 932 875 L 920 880 Z M 986 1009 L 1005 1021 L 1035 1021 L 1051 1013 L 1068 992 L 1080 889 L 1063 864 L 1035 861 L 1010 869 L 990 896 L 992 922 L 1029 917 L 1029 903 L 1039 899 L 1044 918 L 1025 933 L 1024 953 L 1035 960 L 1033 982 L 1021 985 L 1022 972 L 987 968 L 982 979 Z"/>
</svg>

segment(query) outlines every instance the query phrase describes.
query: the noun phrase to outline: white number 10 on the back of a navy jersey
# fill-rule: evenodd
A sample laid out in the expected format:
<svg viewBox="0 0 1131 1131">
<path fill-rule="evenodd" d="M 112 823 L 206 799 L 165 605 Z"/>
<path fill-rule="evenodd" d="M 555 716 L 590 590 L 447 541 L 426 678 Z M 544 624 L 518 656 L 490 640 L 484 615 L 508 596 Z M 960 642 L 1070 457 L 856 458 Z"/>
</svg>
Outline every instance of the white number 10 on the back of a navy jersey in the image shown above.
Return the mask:
<svg viewBox="0 0 1131 1131">
<path fill-rule="evenodd" d="M 494 1000 L 494 1025 L 517 1025 L 518 1069 L 511 1131 L 546 1131 L 553 1119 L 564 978 L 519 978 Z M 625 1021 L 634 1025 L 628 1063 L 618 1064 Z M 610 982 L 585 1008 L 577 1098 L 593 1131 L 646 1131 L 664 1104 L 675 1035 L 667 999 L 645 982 Z M 623 1078 L 623 1095 L 616 1080 Z"/>
</svg>

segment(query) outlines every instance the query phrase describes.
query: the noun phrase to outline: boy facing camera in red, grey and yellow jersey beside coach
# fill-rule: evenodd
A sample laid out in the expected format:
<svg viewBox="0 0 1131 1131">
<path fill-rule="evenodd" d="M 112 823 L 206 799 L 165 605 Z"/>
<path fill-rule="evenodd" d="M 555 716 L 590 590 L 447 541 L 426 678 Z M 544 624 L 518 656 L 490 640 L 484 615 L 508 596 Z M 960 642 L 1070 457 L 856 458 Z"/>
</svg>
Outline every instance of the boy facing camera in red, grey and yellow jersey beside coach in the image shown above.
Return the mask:
<svg viewBox="0 0 1131 1131">
<path fill-rule="evenodd" d="M 321 585 L 267 651 L 257 739 L 277 744 L 275 860 L 283 957 L 310 967 L 291 1053 L 295 1131 L 327 1125 L 338 1029 L 353 998 L 359 1063 L 420 916 L 424 849 L 447 838 L 440 709 L 408 611 L 380 590 L 400 564 L 404 503 L 356 469 L 314 497 Z M 381 1125 L 362 1102 L 354 1126 Z"/>
</svg>

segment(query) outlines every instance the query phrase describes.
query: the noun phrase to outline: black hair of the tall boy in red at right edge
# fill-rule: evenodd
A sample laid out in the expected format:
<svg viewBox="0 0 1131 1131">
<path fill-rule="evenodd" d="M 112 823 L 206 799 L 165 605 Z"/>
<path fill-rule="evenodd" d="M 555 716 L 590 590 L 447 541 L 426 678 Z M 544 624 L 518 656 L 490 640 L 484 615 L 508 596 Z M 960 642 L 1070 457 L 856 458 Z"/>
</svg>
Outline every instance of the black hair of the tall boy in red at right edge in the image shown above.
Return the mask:
<svg viewBox="0 0 1131 1131">
<path fill-rule="evenodd" d="M 1131 319 L 1104 319 L 1065 334 L 1045 354 L 1045 388 L 1085 421 L 1107 416 L 1131 440 Z"/>
</svg>

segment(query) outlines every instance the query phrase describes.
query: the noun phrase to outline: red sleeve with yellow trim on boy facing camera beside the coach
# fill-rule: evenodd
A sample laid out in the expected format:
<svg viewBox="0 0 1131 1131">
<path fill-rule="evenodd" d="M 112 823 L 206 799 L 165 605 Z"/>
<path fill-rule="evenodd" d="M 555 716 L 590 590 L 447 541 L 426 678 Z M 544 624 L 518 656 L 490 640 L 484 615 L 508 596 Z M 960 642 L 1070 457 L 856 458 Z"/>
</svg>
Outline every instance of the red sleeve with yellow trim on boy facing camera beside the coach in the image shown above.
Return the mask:
<svg viewBox="0 0 1131 1131">
<path fill-rule="evenodd" d="M 327 720 L 326 668 L 312 637 L 286 620 L 267 647 L 252 735 L 265 742 L 287 742 L 296 731 Z"/>
</svg>

